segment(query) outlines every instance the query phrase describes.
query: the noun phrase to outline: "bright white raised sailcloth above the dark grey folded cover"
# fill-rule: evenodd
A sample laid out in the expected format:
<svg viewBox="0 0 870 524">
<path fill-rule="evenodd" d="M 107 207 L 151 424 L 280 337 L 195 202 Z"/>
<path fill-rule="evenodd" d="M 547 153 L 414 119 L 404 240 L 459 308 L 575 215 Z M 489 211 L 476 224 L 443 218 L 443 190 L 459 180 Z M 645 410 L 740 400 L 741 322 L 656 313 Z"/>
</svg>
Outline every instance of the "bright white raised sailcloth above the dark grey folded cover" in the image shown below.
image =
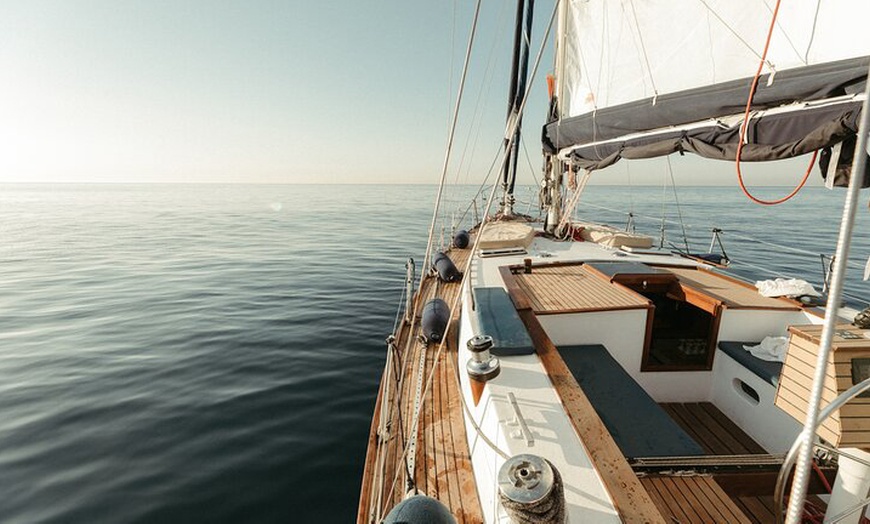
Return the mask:
<svg viewBox="0 0 870 524">
<path fill-rule="evenodd" d="M 755 74 L 773 2 L 572 0 L 562 116 Z M 784 71 L 870 55 L 870 2 L 783 2 L 767 62 Z M 843 45 L 844 40 L 848 45 Z M 766 66 L 765 73 L 770 73 Z"/>
</svg>

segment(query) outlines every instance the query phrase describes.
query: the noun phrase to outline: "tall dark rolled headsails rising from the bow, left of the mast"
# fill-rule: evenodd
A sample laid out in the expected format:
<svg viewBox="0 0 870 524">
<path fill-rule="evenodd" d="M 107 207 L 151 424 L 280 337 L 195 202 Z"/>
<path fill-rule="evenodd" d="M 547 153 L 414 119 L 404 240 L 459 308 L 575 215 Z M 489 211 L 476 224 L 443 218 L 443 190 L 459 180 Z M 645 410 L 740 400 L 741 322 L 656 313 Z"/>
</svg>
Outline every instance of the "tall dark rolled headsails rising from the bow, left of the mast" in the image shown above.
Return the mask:
<svg viewBox="0 0 870 524">
<path fill-rule="evenodd" d="M 519 114 L 519 109 L 523 105 L 523 96 L 526 92 L 526 82 L 528 81 L 529 43 L 532 36 L 534 6 L 535 0 L 517 0 L 516 30 L 514 32 L 514 50 L 511 64 L 510 90 L 508 93 L 507 129 L 513 127 L 512 123 L 514 120 L 517 122 L 513 137 L 505 137 L 505 148 L 510 147 L 510 150 L 505 151 L 505 154 L 508 154 L 509 158 L 505 162 L 504 171 L 502 172 L 502 190 L 504 192 L 502 209 L 507 216 L 513 214 L 514 185 L 517 178 L 520 128 L 522 127 L 522 116 Z M 524 7 L 525 16 L 523 15 Z M 524 21 L 525 27 L 523 27 Z"/>
</svg>

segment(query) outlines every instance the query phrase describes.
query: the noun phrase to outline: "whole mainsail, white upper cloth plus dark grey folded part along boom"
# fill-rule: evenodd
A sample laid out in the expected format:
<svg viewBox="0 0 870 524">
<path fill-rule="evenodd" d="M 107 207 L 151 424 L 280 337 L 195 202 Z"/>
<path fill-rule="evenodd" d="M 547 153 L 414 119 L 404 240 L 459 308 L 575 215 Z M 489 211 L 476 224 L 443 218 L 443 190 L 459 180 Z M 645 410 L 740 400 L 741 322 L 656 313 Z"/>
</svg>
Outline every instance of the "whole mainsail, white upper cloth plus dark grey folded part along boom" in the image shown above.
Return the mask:
<svg viewBox="0 0 870 524">
<path fill-rule="evenodd" d="M 692 152 L 735 158 L 765 42 L 742 159 L 854 139 L 870 62 L 870 2 L 563 0 L 557 118 L 544 148 L 586 169 Z"/>
</svg>

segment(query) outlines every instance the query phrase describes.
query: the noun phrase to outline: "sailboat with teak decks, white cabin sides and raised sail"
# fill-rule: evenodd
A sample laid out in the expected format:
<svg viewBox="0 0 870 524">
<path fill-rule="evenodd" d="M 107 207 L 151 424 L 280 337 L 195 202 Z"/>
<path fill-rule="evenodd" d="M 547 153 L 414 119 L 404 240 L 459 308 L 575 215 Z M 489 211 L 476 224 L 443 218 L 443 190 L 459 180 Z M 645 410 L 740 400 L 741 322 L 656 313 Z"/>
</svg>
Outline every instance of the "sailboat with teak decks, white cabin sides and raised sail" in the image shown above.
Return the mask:
<svg viewBox="0 0 870 524">
<path fill-rule="evenodd" d="M 543 223 L 512 194 L 533 7 L 517 4 L 502 182 L 441 250 L 439 192 L 419 285 L 408 263 L 357 522 L 864 521 L 870 332 L 840 305 L 870 182 L 870 5 L 554 2 Z M 672 154 L 731 162 L 741 185 L 746 162 L 804 157 L 847 186 L 826 299 L 573 218 L 590 176 Z"/>
</svg>

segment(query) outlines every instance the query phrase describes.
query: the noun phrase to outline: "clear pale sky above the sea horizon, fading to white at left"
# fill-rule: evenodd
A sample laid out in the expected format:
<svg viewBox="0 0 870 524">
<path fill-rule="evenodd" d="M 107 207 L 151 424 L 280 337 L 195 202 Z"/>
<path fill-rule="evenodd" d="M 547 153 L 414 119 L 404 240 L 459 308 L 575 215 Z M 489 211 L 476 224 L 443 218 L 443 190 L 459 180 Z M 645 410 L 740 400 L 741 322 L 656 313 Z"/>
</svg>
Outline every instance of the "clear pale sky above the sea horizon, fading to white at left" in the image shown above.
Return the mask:
<svg viewBox="0 0 870 524">
<path fill-rule="evenodd" d="M 0 182 L 435 183 L 473 4 L 0 0 Z M 552 8 L 537 2 L 533 52 Z M 513 11 L 484 1 L 452 181 L 481 180 L 498 147 Z M 551 69 L 547 52 L 520 182 L 539 170 Z M 675 162 L 690 182 L 733 178 Z M 660 183 L 660 164 L 633 181 Z"/>
</svg>

